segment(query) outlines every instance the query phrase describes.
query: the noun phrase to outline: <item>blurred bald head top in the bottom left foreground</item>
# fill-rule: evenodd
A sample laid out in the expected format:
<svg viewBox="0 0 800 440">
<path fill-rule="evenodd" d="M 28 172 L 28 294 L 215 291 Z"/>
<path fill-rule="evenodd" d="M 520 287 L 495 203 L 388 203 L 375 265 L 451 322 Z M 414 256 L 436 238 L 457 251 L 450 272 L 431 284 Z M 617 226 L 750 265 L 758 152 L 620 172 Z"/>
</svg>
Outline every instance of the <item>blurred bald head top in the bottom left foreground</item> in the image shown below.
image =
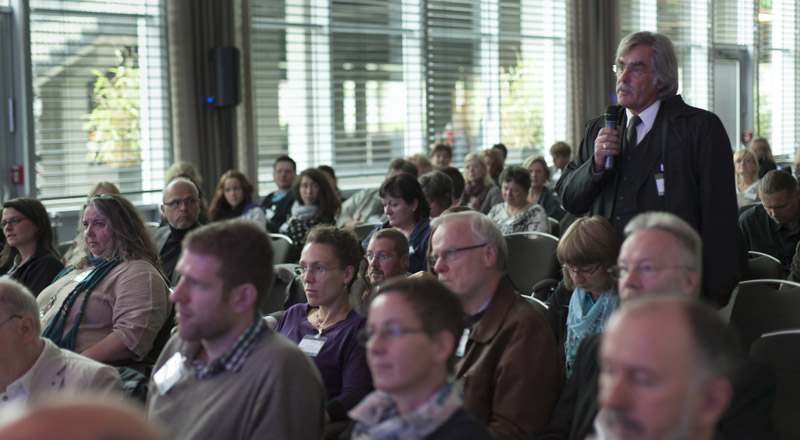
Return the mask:
<svg viewBox="0 0 800 440">
<path fill-rule="evenodd" d="M 5 440 L 166 440 L 141 409 L 113 399 L 38 401 L 0 426 Z"/>
</svg>

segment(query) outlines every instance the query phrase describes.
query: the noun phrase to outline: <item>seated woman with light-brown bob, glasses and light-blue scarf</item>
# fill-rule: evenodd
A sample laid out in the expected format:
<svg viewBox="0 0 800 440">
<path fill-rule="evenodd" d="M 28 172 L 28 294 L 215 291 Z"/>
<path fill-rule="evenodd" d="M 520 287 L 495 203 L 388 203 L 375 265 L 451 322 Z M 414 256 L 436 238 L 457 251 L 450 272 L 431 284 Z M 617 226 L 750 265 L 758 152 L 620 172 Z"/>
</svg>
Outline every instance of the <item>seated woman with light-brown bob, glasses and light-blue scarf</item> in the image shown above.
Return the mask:
<svg viewBox="0 0 800 440">
<path fill-rule="evenodd" d="M 564 281 L 553 293 L 547 320 L 564 347 L 567 378 L 583 339 L 603 330 L 617 307 L 617 286 L 608 269 L 617 262 L 619 241 L 611 223 L 599 215 L 581 217 L 558 241 L 556 256 Z"/>
</svg>

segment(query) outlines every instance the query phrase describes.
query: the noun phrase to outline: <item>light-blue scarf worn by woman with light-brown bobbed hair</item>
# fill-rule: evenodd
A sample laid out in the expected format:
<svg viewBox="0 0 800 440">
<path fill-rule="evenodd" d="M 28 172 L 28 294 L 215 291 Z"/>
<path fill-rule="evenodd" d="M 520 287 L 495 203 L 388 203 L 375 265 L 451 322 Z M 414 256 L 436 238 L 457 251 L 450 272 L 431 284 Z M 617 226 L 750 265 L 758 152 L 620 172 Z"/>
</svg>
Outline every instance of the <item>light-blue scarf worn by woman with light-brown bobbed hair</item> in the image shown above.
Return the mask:
<svg viewBox="0 0 800 440">
<path fill-rule="evenodd" d="M 564 341 L 564 354 L 567 357 L 567 377 L 572 375 L 572 366 L 575 363 L 575 354 L 583 338 L 603 330 L 611 313 L 617 308 L 619 296 L 614 293 L 614 288 L 606 290 L 597 298 L 597 302 L 587 311 L 584 303 L 589 292 L 575 287 L 569 300 L 569 313 L 567 314 L 567 340 Z"/>
</svg>

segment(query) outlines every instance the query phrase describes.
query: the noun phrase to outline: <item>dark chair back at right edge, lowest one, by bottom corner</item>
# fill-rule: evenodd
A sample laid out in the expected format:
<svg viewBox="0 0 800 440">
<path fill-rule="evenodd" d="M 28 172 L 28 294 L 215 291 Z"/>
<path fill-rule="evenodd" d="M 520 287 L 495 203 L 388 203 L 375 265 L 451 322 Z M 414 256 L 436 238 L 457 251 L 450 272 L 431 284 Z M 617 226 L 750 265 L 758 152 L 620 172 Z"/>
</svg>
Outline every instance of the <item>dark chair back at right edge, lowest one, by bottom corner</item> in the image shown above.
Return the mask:
<svg viewBox="0 0 800 440">
<path fill-rule="evenodd" d="M 775 373 L 772 403 L 775 433 L 779 438 L 797 438 L 800 433 L 800 329 L 768 333 L 756 340 L 750 355 Z"/>
</svg>

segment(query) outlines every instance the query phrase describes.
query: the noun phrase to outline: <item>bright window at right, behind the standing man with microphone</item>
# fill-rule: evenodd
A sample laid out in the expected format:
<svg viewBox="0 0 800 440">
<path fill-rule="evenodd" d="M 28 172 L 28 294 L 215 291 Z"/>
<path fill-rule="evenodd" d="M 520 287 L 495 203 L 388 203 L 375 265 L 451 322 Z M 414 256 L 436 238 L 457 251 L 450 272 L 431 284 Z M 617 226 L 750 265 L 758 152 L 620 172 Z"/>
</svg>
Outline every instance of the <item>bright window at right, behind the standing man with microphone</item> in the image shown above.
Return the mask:
<svg viewBox="0 0 800 440">
<path fill-rule="evenodd" d="M 620 17 L 622 35 L 669 35 L 678 52 L 679 93 L 718 113 L 734 148 L 743 146 L 742 132 L 753 132 L 769 139 L 775 154 L 794 155 L 800 141 L 795 0 L 623 0 Z M 731 93 L 742 99 L 725 100 Z M 736 120 L 742 114 L 745 120 Z"/>
</svg>

